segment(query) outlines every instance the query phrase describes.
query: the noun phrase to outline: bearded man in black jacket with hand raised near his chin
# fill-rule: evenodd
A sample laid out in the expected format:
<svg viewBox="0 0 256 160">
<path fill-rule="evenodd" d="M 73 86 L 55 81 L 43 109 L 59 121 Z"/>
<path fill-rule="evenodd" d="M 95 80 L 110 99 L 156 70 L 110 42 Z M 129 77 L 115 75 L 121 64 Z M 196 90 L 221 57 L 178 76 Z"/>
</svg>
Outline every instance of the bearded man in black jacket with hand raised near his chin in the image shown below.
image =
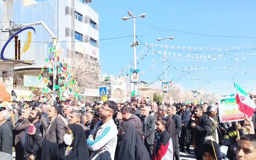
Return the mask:
<svg viewBox="0 0 256 160">
<path fill-rule="evenodd" d="M 211 129 L 211 120 L 207 114 L 203 114 L 202 106 L 196 106 L 194 108 L 194 114 L 188 122 L 187 128 L 192 129 L 192 144 L 195 150 L 197 160 L 202 160 L 200 156 L 200 147 L 205 140 L 206 136 L 209 136 Z"/>
</svg>

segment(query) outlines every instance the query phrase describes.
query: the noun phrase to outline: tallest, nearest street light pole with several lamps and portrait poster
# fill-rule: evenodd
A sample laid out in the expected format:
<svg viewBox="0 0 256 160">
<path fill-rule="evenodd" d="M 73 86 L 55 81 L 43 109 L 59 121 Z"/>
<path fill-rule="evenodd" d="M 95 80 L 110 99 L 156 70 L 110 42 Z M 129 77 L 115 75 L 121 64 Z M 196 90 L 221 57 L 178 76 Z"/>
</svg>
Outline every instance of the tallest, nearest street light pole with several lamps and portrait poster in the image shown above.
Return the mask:
<svg viewBox="0 0 256 160">
<path fill-rule="evenodd" d="M 136 69 L 136 34 L 135 34 L 135 18 L 140 17 L 144 18 L 146 17 L 146 14 L 140 14 L 138 16 L 133 16 L 131 11 L 128 11 L 129 17 L 122 17 L 123 20 L 127 20 L 132 18 L 133 20 L 133 69 Z M 132 85 L 131 85 L 132 86 Z M 131 89 L 132 90 L 132 89 Z M 133 90 L 139 92 L 139 87 L 137 87 L 137 83 L 133 83 Z"/>
</svg>

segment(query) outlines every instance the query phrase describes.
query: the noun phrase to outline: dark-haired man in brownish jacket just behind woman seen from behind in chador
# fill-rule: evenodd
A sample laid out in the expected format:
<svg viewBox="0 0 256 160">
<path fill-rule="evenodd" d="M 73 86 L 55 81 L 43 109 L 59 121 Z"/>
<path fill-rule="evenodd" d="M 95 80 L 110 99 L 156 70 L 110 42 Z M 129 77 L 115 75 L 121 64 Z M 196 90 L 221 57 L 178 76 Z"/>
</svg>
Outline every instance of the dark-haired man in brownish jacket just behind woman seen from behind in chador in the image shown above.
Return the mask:
<svg viewBox="0 0 256 160">
<path fill-rule="evenodd" d="M 119 121 L 119 124 L 123 121 L 129 122 L 129 124 L 133 125 L 140 137 L 143 139 L 143 133 L 142 133 L 142 123 L 140 121 L 140 118 L 136 116 L 135 114 L 132 114 L 133 108 L 129 108 L 127 106 L 123 107 L 120 112 L 118 112 L 117 119 Z"/>
</svg>

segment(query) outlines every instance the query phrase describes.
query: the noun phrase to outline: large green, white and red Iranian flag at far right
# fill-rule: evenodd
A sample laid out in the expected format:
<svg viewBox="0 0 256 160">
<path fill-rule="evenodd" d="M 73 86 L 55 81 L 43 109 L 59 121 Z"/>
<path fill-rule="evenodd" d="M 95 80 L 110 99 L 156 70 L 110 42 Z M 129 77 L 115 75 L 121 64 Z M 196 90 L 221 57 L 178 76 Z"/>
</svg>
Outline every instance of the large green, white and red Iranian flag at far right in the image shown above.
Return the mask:
<svg viewBox="0 0 256 160">
<path fill-rule="evenodd" d="M 234 86 L 236 88 L 236 101 L 237 101 L 238 109 L 242 113 L 251 117 L 256 108 L 254 102 L 248 96 L 248 94 L 246 94 L 246 92 L 235 82 L 235 80 L 234 80 Z"/>
</svg>

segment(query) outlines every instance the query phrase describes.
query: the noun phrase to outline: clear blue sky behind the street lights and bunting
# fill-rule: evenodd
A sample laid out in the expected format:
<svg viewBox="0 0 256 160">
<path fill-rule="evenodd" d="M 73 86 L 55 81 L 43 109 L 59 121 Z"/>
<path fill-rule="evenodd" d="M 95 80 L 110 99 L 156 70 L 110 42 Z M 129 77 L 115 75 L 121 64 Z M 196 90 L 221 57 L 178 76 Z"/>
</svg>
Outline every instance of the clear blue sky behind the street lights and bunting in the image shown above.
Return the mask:
<svg viewBox="0 0 256 160">
<path fill-rule="evenodd" d="M 99 14 L 100 39 L 123 37 L 133 34 L 132 19 L 126 21 L 121 19 L 123 16 L 128 16 L 127 11 L 132 11 L 133 15 L 147 14 L 146 18 L 136 18 L 136 35 L 138 35 L 137 38 L 140 41 L 148 43 L 148 46 L 152 50 L 157 50 L 157 53 L 161 51 L 160 56 L 163 57 L 164 48 L 161 48 L 161 45 L 164 45 L 164 41 L 158 42 L 156 38 L 174 37 L 173 40 L 166 40 L 166 45 L 169 46 L 169 50 L 166 51 L 167 60 L 170 62 L 167 62 L 167 66 L 170 66 L 166 72 L 167 76 L 169 76 L 167 80 L 174 79 L 174 81 L 176 81 L 178 79 L 177 84 L 182 88 L 194 88 L 193 73 L 188 66 L 199 65 L 200 67 L 195 71 L 197 72 L 197 74 L 195 74 L 196 79 L 199 79 L 196 83 L 196 88 L 202 87 L 206 90 L 207 86 L 210 92 L 217 93 L 219 91 L 224 94 L 234 93 L 232 79 L 234 77 L 238 84 L 243 85 L 242 87 L 245 91 L 256 89 L 255 85 L 253 85 L 256 81 L 254 80 L 256 75 L 253 74 L 255 72 L 253 69 L 256 68 L 256 66 L 253 65 L 256 64 L 256 55 L 253 54 L 256 53 L 256 47 L 254 47 L 256 45 L 254 20 L 256 15 L 255 1 L 94 0 L 90 5 Z M 170 30 L 184 31 L 187 33 Z M 188 33 L 233 37 L 207 37 Z M 145 36 L 139 37 L 143 35 Z M 136 41 L 139 41 L 138 39 Z M 133 48 L 130 46 L 132 41 L 132 37 L 127 37 L 99 42 L 102 73 L 107 73 L 108 75 L 117 73 L 117 75 L 119 75 L 118 71 L 121 69 L 124 70 L 124 67 L 127 68 L 129 62 L 133 62 Z M 161 57 L 156 53 L 153 56 L 152 50 L 149 48 L 145 50 L 145 46 L 142 45 L 140 41 L 140 45 L 136 47 L 136 53 L 139 57 L 137 62 L 140 62 L 139 65 L 137 64 L 137 69 L 140 69 L 141 72 L 148 69 L 148 72 L 145 71 L 145 74 L 140 76 L 140 80 L 151 83 L 164 72 L 164 63 L 162 63 Z M 154 44 L 154 47 L 150 46 L 151 43 Z M 158 48 L 156 48 L 156 44 Z M 174 49 L 171 49 L 171 46 L 174 46 Z M 177 49 L 177 46 L 180 48 Z M 246 46 L 249 46 L 249 48 L 246 48 Z M 182 49 L 182 47 L 185 47 L 185 49 Z M 188 47 L 191 47 L 190 52 Z M 193 47 L 197 47 L 197 49 Z M 199 47 L 203 47 L 203 49 L 200 50 Z M 210 49 L 207 50 L 206 47 Z M 215 50 L 212 50 L 212 47 L 215 47 Z M 219 51 L 217 47 L 221 47 L 221 50 Z M 227 51 L 225 47 L 228 47 Z M 234 47 L 234 49 L 231 49 L 231 47 Z M 237 47 L 240 47 L 240 49 Z M 142 50 L 144 50 L 144 53 L 141 52 Z M 147 53 L 148 50 L 150 50 L 150 53 Z M 139 53 L 141 53 L 141 56 L 139 56 Z M 144 56 L 145 53 L 147 53 L 147 57 Z M 176 53 L 175 57 L 173 53 Z M 178 54 L 181 56 L 178 57 Z M 190 61 L 188 61 L 188 54 Z M 193 61 L 191 57 L 192 54 L 194 56 Z M 196 55 L 199 56 L 199 59 L 200 55 L 202 55 L 203 59 L 204 55 L 206 55 L 207 59 L 206 61 L 198 60 L 196 62 Z M 210 60 L 208 60 L 208 55 L 211 56 Z M 221 57 L 219 57 L 219 55 L 221 55 Z M 213 61 L 212 56 L 216 58 L 215 61 Z M 142 57 L 144 57 L 144 60 L 142 60 Z M 176 58 L 176 60 L 174 60 L 174 58 Z M 178 60 L 178 58 L 180 58 L 180 60 Z M 186 61 L 181 61 L 182 58 L 186 58 Z M 219 60 L 219 58 L 221 58 L 221 60 Z M 225 60 L 223 58 L 225 58 Z M 245 58 L 245 60 L 243 58 Z M 149 67 L 152 66 L 154 62 L 155 67 L 150 69 Z M 131 65 L 129 66 L 131 67 Z M 232 69 L 230 68 L 231 66 Z M 237 68 L 238 66 L 241 67 Z M 174 69 L 174 67 L 176 67 L 176 69 Z M 185 67 L 187 67 L 187 69 L 185 69 Z M 226 68 L 223 69 L 223 67 Z M 229 69 L 227 69 L 227 67 L 229 67 Z M 207 68 L 207 70 L 205 68 Z M 183 75 L 179 71 L 181 73 L 183 71 Z M 187 73 L 185 73 L 186 71 Z M 190 72 L 189 74 L 188 71 Z M 198 72 L 200 72 L 200 75 Z M 202 74 L 202 72 L 204 72 L 204 74 Z M 207 72 L 207 75 L 205 72 Z M 213 74 L 213 72 L 215 72 L 215 74 Z M 223 77 L 223 75 L 225 77 Z M 227 75 L 229 75 L 229 77 L 227 77 Z M 233 77 L 231 75 L 233 75 Z M 205 81 L 203 77 L 207 77 L 210 84 L 202 82 Z M 161 76 L 161 78 L 164 78 L 164 76 Z M 222 83 L 224 85 L 221 85 Z M 229 84 L 232 86 L 227 86 Z M 154 86 L 156 85 L 160 85 L 160 83 L 154 84 Z"/>
</svg>

